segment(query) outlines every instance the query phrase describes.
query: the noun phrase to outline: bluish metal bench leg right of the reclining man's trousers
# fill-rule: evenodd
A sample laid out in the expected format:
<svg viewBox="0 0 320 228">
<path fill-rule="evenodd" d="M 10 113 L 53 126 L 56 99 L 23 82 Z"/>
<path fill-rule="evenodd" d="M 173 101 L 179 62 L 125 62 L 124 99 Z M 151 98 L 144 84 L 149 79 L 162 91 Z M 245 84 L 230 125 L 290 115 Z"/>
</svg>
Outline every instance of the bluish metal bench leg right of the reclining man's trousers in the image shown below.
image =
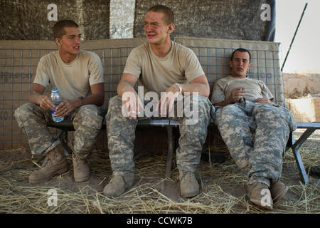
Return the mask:
<svg viewBox="0 0 320 228">
<path fill-rule="evenodd" d="M 306 137 L 306 138 L 308 138 L 308 137 Z M 292 145 L 291 149 L 292 149 L 292 152 L 294 153 L 294 159 L 296 160 L 297 167 L 298 167 L 298 170 L 299 170 L 299 173 L 300 173 L 300 176 L 302 178 L 302 182 L 304 183 L 304 185 L 309 184 L 309 180 L 308 180 L 308 176 L 306 175 L 306 170 L 304 169 L 304 163 L 302 162 L 302 159 L 300 157 L 298 149 L 302 145 L 302 143 L 306 140 L 306 138 L 304 138 L 304 140 L 301 140 L 302 137 L 300 137 L 297 142 L 294 142 L 294 137 L 293 137 L 292 133 L 290 133 L 290 135 L 289 135 L 289 140 L 291 141 L 291 145 Z"/>
</svg>

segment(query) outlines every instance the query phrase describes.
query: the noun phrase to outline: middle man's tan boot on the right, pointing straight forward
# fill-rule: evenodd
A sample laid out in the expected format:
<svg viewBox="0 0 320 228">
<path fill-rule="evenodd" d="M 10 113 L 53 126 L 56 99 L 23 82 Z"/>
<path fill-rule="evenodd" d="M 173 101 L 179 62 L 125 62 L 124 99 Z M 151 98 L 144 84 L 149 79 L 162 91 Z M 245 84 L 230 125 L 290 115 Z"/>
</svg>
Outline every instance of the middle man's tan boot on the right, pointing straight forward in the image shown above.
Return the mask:
<svg viewBox="0 0 320 228">
<path fill-rule="evenodd" d="M 181 197 L 195 197 L 200 193 L 200 186 L 195 172 L 179 170 Z"/>
</svg>

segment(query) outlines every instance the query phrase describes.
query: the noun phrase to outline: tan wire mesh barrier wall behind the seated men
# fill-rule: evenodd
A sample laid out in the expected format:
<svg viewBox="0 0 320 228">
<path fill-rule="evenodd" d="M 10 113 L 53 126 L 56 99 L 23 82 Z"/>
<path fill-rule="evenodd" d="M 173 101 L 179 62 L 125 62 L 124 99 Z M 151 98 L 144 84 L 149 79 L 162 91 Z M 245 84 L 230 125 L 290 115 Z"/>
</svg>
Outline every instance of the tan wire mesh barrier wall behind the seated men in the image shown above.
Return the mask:
<svg viewBox="0 0 320 228">
<path fill-rule="evenodd" d="M 122 76 L 127 56 L 132 48 L 137 46 L 137 41 L 132 44 L 129 42 L 130 40 L 137 39 L 127 39 L 124 41 L 127 45 L 116 47 L 110 45 L 109 40 L 99 41 L 97 45 L 91 42 L 91 46 L 87 45 L 85 48 L 97 53 L 101 58 L 105 78 L 105 107 L 107 107 L 108 100 L 117 93 L 117 84 Z M 139 42 L 141 43 L 141 41 L 143 40 L 140 38 Z M 2 43 L 4 42 L 2 41 Z M 203 71 L 206 73 L 211 90 L 215 81 L 230 74 L 228 62 L 233 50 L 238 47 L 249 49 L 252 54 L 252 67 L 248 76 L 265 81 L 274 95 L 274 101 L 279 105 L 284 105 L 284 87 L 279 69 L 278 43 L 230 40 L 225 40 L 223 43 L 223 40 L 215 39 L 206 39 L 203 42 L 201 39 L 192 38 L 176 39 L 176 42 L 190 47 L 196 53 Z M 3 46 L 0 48 L 0 150 L 9 150 L 21 145 L 28 145 L 26 136 L 21 133 L 16 123 L 14 110 L 28 102 L 38 61 L 46 53 L 54 51 L 55 48 L 13 48 L 12 46 L 11 48 L 3 48 Z M 47 88 L 45 93 L 49 94 L 50 88 Z M 105 150 L 107 138 L 104 132 L 101 133 L 98 141 L 97 145 L 100 145 L 100 149 Z"/>
</svg>

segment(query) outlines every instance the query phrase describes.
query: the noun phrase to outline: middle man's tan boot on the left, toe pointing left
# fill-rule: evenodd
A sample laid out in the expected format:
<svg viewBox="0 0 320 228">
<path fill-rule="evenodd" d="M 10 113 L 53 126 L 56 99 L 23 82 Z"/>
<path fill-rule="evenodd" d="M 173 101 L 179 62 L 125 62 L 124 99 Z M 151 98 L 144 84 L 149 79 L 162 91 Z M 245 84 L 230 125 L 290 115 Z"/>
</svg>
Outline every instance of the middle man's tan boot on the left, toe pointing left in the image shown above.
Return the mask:
<svg viewBox="0 0 320 228">
<path fill-rule="evenodd" d="M 127 188 L 132 187 L 133 184 L 134 175 L 127 177 L 114 175 L 109 184 L 105 186 L 102 194 L 107 197 L 118 197 L 119 195 L 122 195 Z"/>
</svg>

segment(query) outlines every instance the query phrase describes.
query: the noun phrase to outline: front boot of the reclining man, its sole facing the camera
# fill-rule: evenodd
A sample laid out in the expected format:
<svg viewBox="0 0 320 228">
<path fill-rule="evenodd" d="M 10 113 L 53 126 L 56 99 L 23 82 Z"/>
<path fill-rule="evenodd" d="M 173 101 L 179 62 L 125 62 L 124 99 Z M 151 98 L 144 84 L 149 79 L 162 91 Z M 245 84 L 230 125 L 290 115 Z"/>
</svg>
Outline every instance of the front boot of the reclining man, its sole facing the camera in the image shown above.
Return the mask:
<svg viewBox="0 0 320 228">
<path fill-rule="evenodd" d="M 273 201 L 269 187 L 264 183 L 256 182 L 247 187 L 247 197 L 250 201 L 264 209 L 272 210 Z"/>
</svg>

